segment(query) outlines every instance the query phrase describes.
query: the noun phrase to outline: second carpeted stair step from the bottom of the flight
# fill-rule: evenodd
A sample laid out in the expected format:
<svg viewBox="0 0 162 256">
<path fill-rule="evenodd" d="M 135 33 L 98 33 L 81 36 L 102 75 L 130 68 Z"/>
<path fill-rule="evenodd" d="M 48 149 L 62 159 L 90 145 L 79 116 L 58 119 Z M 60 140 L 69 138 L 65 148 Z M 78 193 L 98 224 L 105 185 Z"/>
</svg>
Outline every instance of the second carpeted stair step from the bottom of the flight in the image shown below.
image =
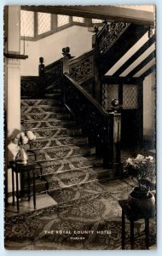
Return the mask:
<svg viewBox="0 0 162 256">
<path fill-rule="evenodd" d="M 38 166 L 41 168 L 42 176 L 91 167 L 89 160 L 81 155 L 72 155 L 64 159 L 39 161 Z"/>
</svg>

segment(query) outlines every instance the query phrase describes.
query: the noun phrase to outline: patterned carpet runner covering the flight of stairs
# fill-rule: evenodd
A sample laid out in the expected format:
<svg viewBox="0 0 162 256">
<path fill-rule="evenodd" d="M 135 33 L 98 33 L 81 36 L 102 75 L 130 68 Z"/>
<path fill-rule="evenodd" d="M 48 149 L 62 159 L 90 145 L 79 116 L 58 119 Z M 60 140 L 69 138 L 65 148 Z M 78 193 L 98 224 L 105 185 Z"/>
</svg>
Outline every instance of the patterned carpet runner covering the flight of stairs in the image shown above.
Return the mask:
<svg viewBox="0 0 162 256">
<path fill-rule="evenodd" d="M 38 177 L 45 180 L 49 194 L 97 180 L 90 161 L 95 148 L 88 147 L 87 138 L 58 99 L 21 99 L 21 119 L 23 130 L 37 137 L 31 149 Z"/>
</svg>

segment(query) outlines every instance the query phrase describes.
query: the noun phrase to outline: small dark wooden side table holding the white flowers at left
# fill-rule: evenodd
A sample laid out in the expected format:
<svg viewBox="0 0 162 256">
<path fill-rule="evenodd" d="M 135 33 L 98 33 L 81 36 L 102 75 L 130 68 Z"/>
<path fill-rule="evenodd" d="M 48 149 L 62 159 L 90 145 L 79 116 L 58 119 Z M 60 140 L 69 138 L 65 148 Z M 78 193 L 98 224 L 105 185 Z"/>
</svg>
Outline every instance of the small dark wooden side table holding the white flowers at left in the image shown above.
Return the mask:
<svg viewBox="0 0 162 256">
<path fill-rule="evenodd" d="M 29 160 L 26 164 L 16 161 L 9 162 L 12 169 L 12 196 L 13 196 L 13 206 L 14 206 L 14 195 L 17 197 L 17 212 L 20 211 L 19 199 L 20 199 L 20 191 L 19 191 L 19 180 L 18 174 L 22 172 L 27 172 L 27 195 L 28 201 L 31 198 L 31 175 L 32 172 L 32 185 L 33 185 L 33 206 L 36 209 L 36 189 L 35 189 L 35 164 L 32 160 Z M 14 173 L 15 173 L 15 186 L 16 191 L 14 191 Z"/>
</svg>

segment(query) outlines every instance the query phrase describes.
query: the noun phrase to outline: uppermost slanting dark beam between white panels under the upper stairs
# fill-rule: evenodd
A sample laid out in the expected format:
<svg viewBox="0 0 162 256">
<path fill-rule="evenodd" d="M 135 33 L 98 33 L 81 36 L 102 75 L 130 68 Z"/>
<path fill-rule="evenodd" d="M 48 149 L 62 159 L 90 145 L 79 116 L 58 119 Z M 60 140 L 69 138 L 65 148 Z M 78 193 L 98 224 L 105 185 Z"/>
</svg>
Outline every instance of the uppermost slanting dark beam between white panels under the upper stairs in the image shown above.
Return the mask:
<svg viewBox="0 0 162 256">
<path fill-rule="evenodd" d="M 121 73 L 123 73 L 124 70 L 127 67 L 129 67 L 134 61 L 136 61 L 136 59 L 140 55 L 142 55 L 143 52 L 147 50 L 154 42 L 155 42 L 155 36 L 153 35 L 153 37 L 149 38 L 148 41 L 145 44 L 143 44 L 142 47 L 138 49 L 136 53 L 130 57 L 130 59 L 128 59 L 128 61 L 125 61 L 124 64 L 121 67 L 119 67 L 119 69 L 115 73 L 113 73 L 113 76 L 118 77 Z"/>
</svg>

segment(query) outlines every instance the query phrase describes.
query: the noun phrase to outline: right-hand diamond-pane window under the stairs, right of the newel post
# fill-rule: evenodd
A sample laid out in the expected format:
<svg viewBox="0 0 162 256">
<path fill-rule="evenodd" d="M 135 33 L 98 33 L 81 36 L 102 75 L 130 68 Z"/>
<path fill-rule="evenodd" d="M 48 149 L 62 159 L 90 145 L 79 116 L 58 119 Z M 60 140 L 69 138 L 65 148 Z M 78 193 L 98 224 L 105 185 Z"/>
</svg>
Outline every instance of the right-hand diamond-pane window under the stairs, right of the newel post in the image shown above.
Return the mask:
<svg viewBox="0 0 162 256">
<path fill-rule="evenodd" d="M 136 85 L 123 85 L 123 108 L 136 109 L 137 108 L 137 87 Z"/>
</svg>

